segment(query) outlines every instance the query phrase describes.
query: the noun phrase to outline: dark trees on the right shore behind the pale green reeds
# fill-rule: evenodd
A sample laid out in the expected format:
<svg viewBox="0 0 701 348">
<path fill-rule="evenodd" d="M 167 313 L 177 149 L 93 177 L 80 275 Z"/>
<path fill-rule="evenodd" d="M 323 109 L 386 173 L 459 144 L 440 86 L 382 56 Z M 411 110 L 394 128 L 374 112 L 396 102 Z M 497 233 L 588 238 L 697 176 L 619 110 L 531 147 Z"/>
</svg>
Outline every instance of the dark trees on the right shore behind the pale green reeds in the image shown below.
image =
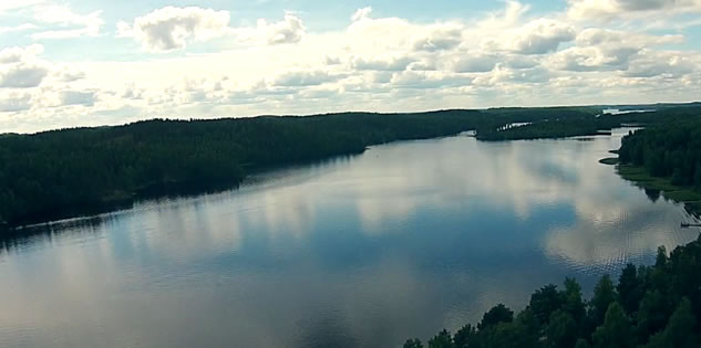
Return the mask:
<svg viewBox="0 0 701 348">
<path fill-rule="evenodd" d="M 618 154 L 622 164 L 701 191 L 701 112 L 629 134 Z"/>
</svg>

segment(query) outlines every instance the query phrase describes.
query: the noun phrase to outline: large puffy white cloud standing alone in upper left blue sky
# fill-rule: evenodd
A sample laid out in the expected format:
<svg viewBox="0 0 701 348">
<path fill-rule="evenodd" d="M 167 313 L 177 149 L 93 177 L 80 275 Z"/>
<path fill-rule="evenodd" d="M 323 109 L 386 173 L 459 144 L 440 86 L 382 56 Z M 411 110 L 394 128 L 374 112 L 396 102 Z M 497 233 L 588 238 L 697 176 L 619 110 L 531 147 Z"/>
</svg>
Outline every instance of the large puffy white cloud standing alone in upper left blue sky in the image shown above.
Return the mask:
<svg viewBox="0 0 701 348">
<path fill-rule="evenodd" d="M 131 36 L 145 51 L 167 52 L 187 46 L 192 41 L 204 41 L 224 35 L 229 29 L 228 11 L 197 7 L 165 7 L 134 20 L 120 22 L 118 36 Z"/>
</svg>

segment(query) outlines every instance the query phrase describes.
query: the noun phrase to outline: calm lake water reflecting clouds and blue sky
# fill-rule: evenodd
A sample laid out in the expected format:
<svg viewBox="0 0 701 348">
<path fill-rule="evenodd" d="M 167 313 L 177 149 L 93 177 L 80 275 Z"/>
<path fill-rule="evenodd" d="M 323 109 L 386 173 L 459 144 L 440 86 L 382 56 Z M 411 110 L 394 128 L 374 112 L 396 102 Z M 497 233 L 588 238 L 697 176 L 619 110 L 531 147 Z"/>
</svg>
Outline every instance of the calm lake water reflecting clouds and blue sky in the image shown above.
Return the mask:
<svg viewBox="0 0 701 348">
<path fill-rule="evenodd" d="M 652 263 L 689 217 L 583 140 L 394 143 L 0 251 L 1 347 L 396 347 Z"/>
</svg>

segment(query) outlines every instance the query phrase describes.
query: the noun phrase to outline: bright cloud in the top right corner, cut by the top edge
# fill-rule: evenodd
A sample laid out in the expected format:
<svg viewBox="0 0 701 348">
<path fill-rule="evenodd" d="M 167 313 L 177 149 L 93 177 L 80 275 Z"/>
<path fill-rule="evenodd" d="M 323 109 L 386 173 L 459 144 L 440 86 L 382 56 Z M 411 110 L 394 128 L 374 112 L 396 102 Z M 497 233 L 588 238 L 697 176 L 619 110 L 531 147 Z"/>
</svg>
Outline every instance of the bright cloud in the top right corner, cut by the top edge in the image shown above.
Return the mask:
<svg viewBox="0 0 701 348">
<path fill-rule="evenodd" d="M 701 0 L 569 0 L 568 14 L 577 20 L 610 20 L 682 11 L 701 11 Z"/>
</svg>

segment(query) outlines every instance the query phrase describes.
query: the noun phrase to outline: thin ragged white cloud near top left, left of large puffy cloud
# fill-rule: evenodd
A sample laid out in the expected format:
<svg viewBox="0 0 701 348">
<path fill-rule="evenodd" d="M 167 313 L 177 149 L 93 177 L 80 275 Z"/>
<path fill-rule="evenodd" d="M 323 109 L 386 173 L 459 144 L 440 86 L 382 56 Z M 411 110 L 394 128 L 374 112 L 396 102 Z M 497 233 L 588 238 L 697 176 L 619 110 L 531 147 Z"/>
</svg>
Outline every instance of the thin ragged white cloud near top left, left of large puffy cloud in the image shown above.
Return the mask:
<svg viewBox="0 0 701 348">
<path fill-rule="evenodd" d="M 87 14 L 73 12 L 66 6 L 39 6 L 34 8 L 34 20 L 54 24 L 61 29 L 48 30 L 32 34 L 34 40 L 55 40 L 80 36 L 96 36 L 100 28 L 104 24 L 102 11 L 94 11 Z M 69 28 L 69 29 L 64 29 Z"/>
</svg>

